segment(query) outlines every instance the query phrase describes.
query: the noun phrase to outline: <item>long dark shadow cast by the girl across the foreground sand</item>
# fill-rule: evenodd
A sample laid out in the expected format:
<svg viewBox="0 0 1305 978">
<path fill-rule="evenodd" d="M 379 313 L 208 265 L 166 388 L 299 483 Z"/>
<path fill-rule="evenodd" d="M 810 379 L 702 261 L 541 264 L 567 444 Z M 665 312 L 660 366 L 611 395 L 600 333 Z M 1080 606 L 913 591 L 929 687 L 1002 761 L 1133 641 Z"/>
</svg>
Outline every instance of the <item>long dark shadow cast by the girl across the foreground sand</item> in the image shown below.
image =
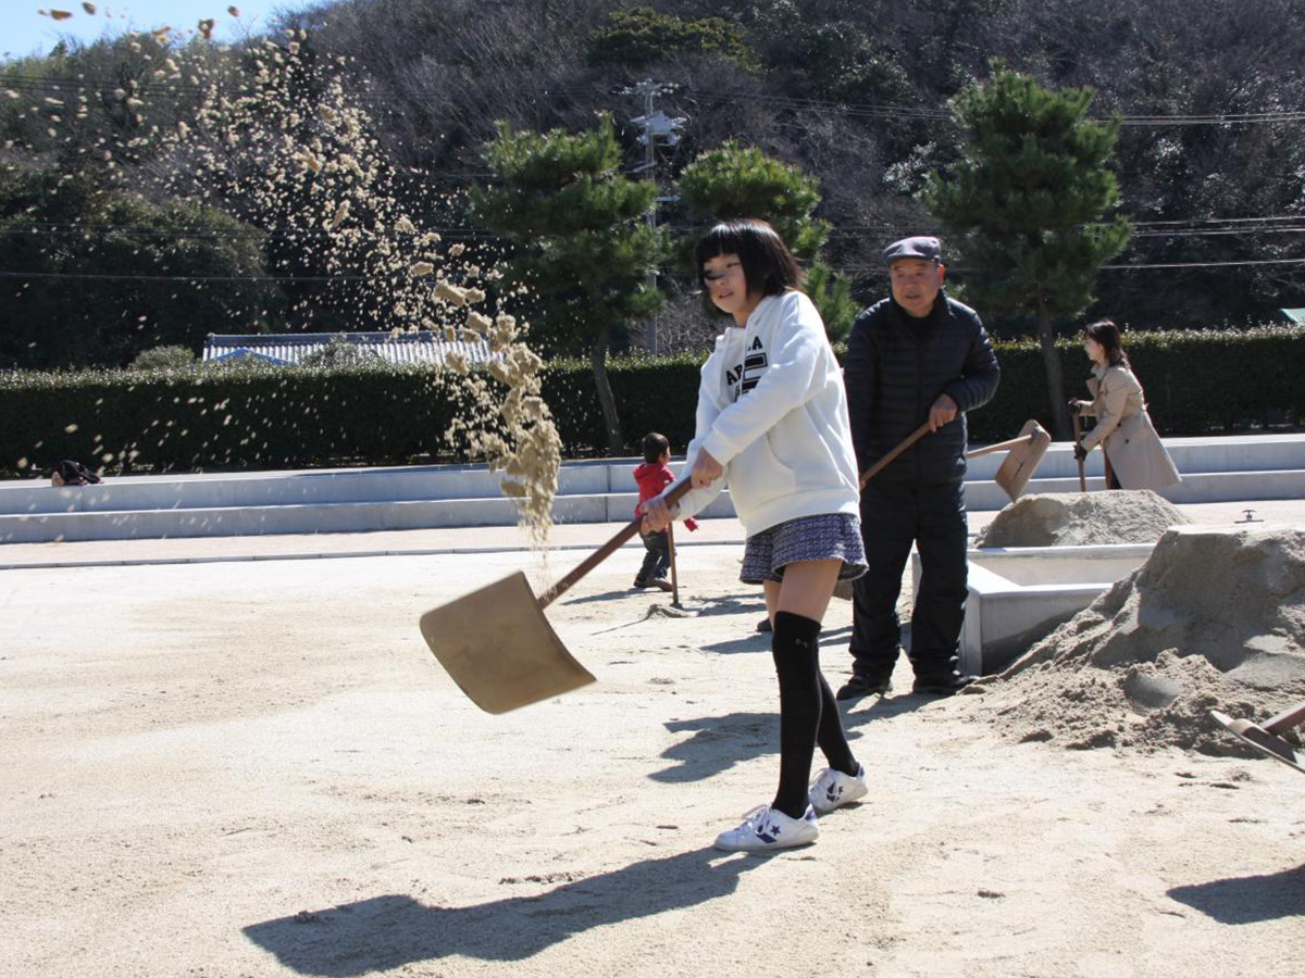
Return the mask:
<svg viewBox="0 0 1305 978">
<path fill-rule="evenodd" d="M 645 859 L 538 896 L 475 906 L 431 906 L 386 895 L 244 928 L 300 974 L 361 975 L 459 955 L 521 961 L 573 934 L 728 896 L 765 858 L 696 849 Z"/>
</svg>

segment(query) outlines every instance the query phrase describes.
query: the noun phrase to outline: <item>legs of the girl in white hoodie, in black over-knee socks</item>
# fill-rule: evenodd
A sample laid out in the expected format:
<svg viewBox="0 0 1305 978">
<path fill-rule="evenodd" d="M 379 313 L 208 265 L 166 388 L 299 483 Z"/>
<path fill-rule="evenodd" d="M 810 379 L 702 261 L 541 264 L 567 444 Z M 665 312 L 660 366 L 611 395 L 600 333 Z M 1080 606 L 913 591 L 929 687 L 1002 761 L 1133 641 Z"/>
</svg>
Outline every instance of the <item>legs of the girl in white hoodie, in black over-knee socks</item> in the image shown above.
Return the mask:
<svg viewBox="0 0 1305 978">
<path fill-rule="evenodd" d="M 806 811 L 817 743 L 830 767 L 846 775 L 857 772 L 834 692 L 820 672 L 820 622 L 842 566 L 839 559 L 790 563 L 782 583 L 765 585 L 779 677 L 779 789 L 773 807 L 795 819 Z"/>
</svg>

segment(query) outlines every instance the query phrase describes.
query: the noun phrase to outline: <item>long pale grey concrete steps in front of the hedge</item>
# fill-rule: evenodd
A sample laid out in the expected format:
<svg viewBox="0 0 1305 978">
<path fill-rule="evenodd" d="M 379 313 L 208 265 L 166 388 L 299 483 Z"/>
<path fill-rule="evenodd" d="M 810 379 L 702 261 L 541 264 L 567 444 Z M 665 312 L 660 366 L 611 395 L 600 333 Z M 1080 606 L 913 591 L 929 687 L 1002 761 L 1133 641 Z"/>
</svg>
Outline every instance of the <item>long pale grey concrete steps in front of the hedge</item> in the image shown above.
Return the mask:
<svg viewBox="0 0 1305 978">
<path fill-rule="evenodd" d="M 1181 485 L 1172 502 L 1305 498 L 1305 436 L 1167 439 Z M 992 481 L 1002 455 L 972 459 L 971 510 L 1009 499 Z M 559 523 L 624 520 L 637 502 L 638 459 L 568 462 L 559 473 Z M 1104 488 L 1101 454 L 1088 456 L 1088 489 Z M 1026 493 L 1078 492 L 1067 443 L 1053 443 Z M 728 493 L 703 514 L 732 516 Z M 99 485 L 0 484 L 0 542 L 170 536 L 326 533 L 510 526 L 515 507 L 483 466 L 127 476 Z"/>
</svg>

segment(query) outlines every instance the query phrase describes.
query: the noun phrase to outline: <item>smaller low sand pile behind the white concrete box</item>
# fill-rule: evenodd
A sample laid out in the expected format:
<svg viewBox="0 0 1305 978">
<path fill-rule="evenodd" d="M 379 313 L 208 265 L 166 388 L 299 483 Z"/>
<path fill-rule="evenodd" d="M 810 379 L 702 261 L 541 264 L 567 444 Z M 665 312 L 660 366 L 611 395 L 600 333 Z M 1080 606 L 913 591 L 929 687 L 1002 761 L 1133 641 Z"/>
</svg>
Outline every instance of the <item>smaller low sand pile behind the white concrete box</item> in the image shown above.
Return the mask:
<svg viewBox="0 0 1305 978">
<path fill-rule="evenodd" d="M 1026 496 L 998 512 L 975 545 L 1150 544 L 1190 522 L 1150 489 Z"/>
</svg>

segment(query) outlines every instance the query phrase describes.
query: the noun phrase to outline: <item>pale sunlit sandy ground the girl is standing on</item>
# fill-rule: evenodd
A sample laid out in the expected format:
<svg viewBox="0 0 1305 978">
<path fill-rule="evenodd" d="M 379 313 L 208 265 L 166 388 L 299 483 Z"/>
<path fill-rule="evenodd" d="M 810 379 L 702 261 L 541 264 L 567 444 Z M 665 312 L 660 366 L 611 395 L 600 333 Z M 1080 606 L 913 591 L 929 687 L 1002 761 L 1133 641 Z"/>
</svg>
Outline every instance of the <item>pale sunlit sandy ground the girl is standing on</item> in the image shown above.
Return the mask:
<svg viewBox="0 0 1305 978">
<path fill-rule="evenodd" d="M 762 602 L 739 557 L 681 549 L 688 618 L 650 614 L 667 596 L 628 591 L 638 557 L 613 557 L 548 614 L 599 682 L 497 717 L 449 682 L 416 618 L 519 567 L 538 589 L 574 554 L 0 572 L 0 974 L 1120 978 L 1305 961 L 1305 778 L 1176 748 L 1011 745 L 981 698 L 844 704 L 867 801 L 808 849 L 715 853 L 776 769 Z M 835 686 L 850 622 L 835 601 Z M 910 689 L 904 662 L 895 681 Z"/>
</svg>

